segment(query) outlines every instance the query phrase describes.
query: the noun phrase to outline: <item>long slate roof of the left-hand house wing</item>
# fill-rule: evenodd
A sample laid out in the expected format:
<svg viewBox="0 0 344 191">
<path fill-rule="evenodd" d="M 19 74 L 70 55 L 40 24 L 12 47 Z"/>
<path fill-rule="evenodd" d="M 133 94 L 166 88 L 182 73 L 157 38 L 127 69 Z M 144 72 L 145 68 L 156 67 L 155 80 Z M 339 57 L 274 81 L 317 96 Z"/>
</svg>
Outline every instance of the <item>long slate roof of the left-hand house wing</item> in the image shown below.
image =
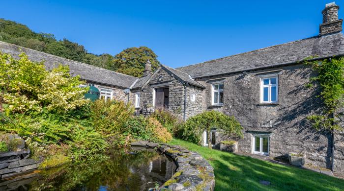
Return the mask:
<svg viewBox="0 0 344 191">
<path fill-rule="evenodd" d="M 69 60 L 52 54 L 47 54 L 30 48 L 24 48 L 1 41 L 0 51 L 4 53 L 9 53 L 17 58 L 21 52 L 25 52 L 29 56 L 29 59 L 32 61 L 45 61 L 44 65 L 47 70 L 53 69 L 59 63 L 63 65 L 68 65 L 70 68 L 70 73 L 72 75 L 80 75 L 81 78 L 84 80 L 90 82 L 97 82 L 104 85 L 128 88 L 136 81 L 136 79 L 138 79 L 130 75 L 102 69 L 82 62 Z"/>
</svg>

